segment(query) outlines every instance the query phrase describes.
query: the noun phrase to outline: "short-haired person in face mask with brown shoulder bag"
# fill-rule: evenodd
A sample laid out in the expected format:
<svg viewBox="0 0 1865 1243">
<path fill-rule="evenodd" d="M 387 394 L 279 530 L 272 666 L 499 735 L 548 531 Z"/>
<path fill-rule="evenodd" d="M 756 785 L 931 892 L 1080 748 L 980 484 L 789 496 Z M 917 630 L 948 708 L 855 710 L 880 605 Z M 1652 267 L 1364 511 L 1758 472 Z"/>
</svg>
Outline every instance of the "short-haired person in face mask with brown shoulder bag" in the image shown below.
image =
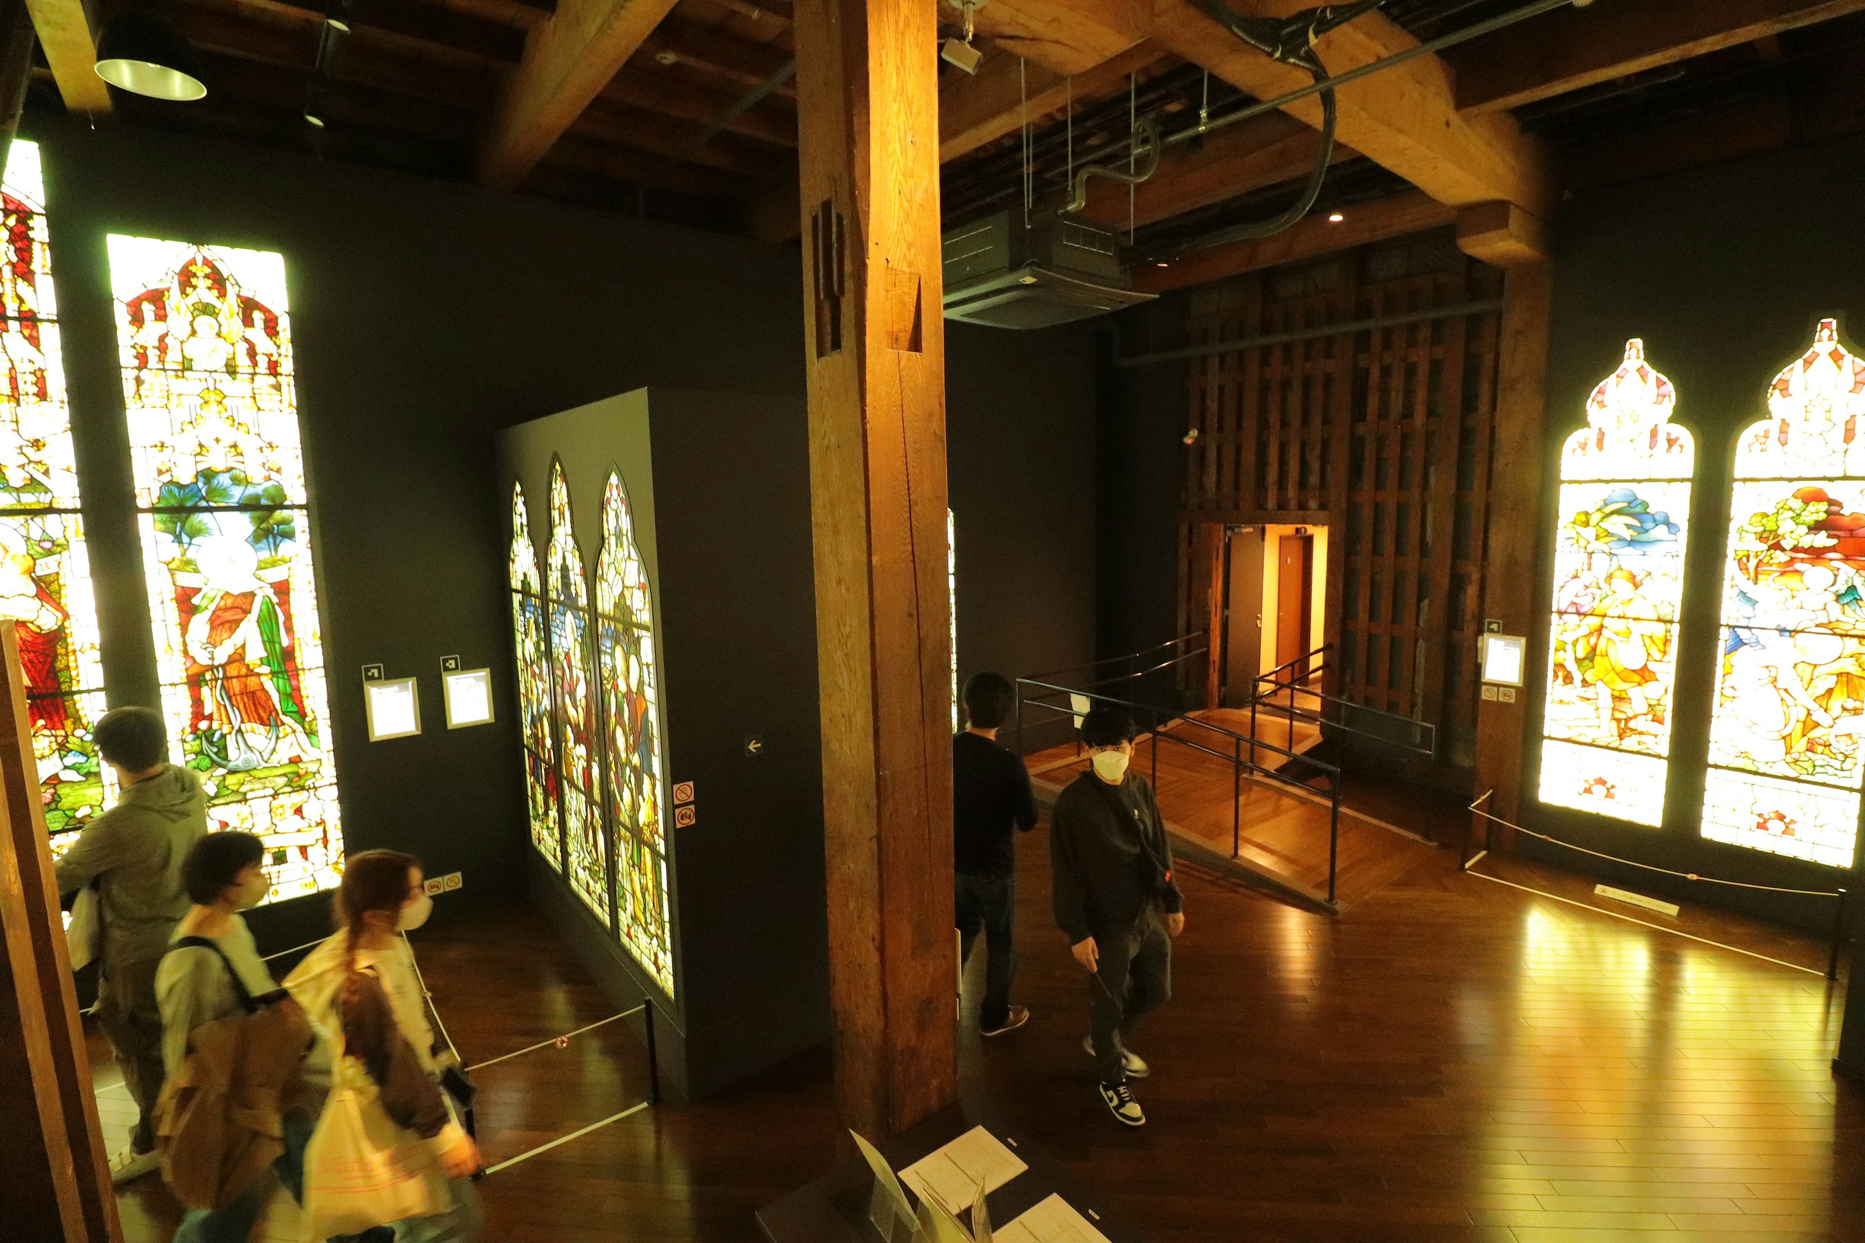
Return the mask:
<svg viewBox="0 0 1865 1243">
<path fill-rule="evenodd" d="M 242 1107 L 250 1105 L 246 1096 L 252 1088 L 250 1079 L 265 1079 L 269 1086 L 285 1086 L 287 1090 L 282 1090 L 280 1096 L 289 1096 L 289 1085 L 297 1081 L 297 1062 L 302 1060 L 310 1036 L 302 1016 L 283 1016 L 282 1025 L 274 1023 L 272 1029 L 280 1032 L 278 1036 L 248 1032 L 246 1040 L 241 1042 L 246 1057 L 272 1053 L 280 1062 L 278 1073 L 228 1073 L 229 1064 L 242 1062 L 242 1057 L 214 1057 L 198 1073 L 190 1073 L 186 1066 L 194 1044 L 205 1040 L 201 1029 L 220 1019 L 254 1014 L 259 1008 L 256 999 L 276 995 L 272 975 L 267 971 L 265 960 L 259 958 L 252 932 L 241 917 L 241 911 L 259 906 L 272 891 L 272 881 L 265 874 L 265 842 L 252 833 L 209 833 L 183 859 L 181 885 L 192 906 L 175 926 L 170 939 L 172 949 L 162 956 L 155 973 L 155 995 L 162 1012 L 166 1081 L 175 1086 L 198 1086 L 218 1072 L 226 1079 L 216 1088 L 237 1098 Z M 162 1103 L 164 1109 L 172 1105 L 166 1096 Z M 241 1114 L 226 1116 L 239 1118 Z M 295 1133 L 293 1124 L 287 1122 L 283 1131 L 285 1154 L 278 1157 L 274 1168 L 287 1185 L 295 1187 L 298 1154 L 302 1154 L 308 1129 L 297 1127 Z M 207 1133 L 237 1154 L 250 1152 L 237 1126 L 231 1131 L 209 1127 Z M 164 1135 L 164 1139 L 170 1137 Z M 192 1139 L 194 1133 L 188 1133 L 183 1144 Z M 246 1161 L 239 1168 L 254 1176 L 261 1174 L 265 1159 L 276 1148 L 278 1144 L 272 1144 L 259 1155 L 257 1163 Z M 207 1159 L 207 1168 L 218 1170 L 224 1168 L 226 1154 L 186 1154 L 183 1159 L 192 1161 L 196 1168 L 200 1168 L 201 1159 Z M 175 1161 L 173 1152 L 170 1152 L 170 1161 Z M 239 1155 L 233 1161 L 237 1163 Z M 173 1176 L 173 1170 L 170 1174 Z M 216 1183 L 218 1178 L 209 1178 L 209 1182 Z M 188 1209 L 175 1232 L 175 1243 L 244 1243 L 259 1219 L 265 1191 L 265 1182 L 254 1178 L 244 1191 L 216 1209 Z"/>
</svg>

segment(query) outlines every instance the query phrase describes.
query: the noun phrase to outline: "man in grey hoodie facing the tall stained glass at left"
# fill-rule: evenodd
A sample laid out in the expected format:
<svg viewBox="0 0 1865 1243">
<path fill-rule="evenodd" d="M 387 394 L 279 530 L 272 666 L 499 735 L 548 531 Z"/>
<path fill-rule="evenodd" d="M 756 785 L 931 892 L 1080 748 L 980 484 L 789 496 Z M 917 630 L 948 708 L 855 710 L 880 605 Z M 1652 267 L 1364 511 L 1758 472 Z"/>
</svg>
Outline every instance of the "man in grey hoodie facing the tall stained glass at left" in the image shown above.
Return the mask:
<svg viewBox="0 0 1865 1243">
<path fill-rule="evenodd" d="M 58 891 L 97 881 L 103 952 L 97 1025 L 123 1068 L 136 1101 L 136 1131 L 110 1163 L 117 1183 L 159 1165 L 155 1101 L 162 1094 L 162 1010 L 155 969 L 168 937 L 188 913 L 181 861 L 207 835 L 207 796 L 192 768 L 168 762 L 168 731 L 153 708 L 112 708 L 97 719 L 97 751 L 116 772 L 121 796 L 58 861 Z"/>
</svg>

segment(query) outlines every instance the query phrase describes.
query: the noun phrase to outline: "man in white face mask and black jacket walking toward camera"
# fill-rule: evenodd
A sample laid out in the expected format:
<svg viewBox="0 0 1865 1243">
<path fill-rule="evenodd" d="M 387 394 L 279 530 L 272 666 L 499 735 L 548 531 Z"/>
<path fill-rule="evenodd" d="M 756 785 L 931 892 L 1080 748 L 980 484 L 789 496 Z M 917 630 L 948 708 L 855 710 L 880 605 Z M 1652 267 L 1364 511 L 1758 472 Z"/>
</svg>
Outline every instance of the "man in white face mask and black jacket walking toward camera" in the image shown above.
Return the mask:
<svg viewBox="0 0 1865 1243">
<path fill-rule="evenodd" d="M 1132 719 L 1097 706 L 1082 719 L 1082 744 L 1091 768 L 1056 798 L 1050 816 L 1056 926 L 1089 971 L 1082 1045 L 1100 1068 L 1100 1100 L 1117 1122 L 1145 1126 L 1126 1081 L 1145 1079 L 1149 1068 L 1125 1036 L 1171 999 L 1169 937 L 1184 930 L 1184 895 L 1153 786 L 1126 766 Z"/>
</svg>

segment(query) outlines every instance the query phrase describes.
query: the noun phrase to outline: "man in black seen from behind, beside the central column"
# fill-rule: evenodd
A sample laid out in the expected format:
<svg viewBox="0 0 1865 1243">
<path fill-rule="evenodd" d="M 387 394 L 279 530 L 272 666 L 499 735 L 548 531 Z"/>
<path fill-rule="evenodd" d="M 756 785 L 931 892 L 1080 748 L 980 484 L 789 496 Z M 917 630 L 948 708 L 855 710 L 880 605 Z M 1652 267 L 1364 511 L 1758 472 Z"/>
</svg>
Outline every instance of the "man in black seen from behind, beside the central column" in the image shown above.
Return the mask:
<svg viewBox="0 0 1865 1243">
<path fill-rule="evenodd" d="M 972 958 L 979 930 L 990 962 L 977 1031 L 1002 1036 L 1029 1021 L 1028 1006 L 1011 1004 L 1011 926 L 1016 919 L 1016 854 L 1011 829 L 1037 824 L 1037 803 L 1024 760 L 998 744 L 998 727 L 1015 691 L 1002 673 L 974 673 L 964 684 L 968 729 L 951 740 L 951 844 L 955 926 L 960 962 Z"/>
</svg>

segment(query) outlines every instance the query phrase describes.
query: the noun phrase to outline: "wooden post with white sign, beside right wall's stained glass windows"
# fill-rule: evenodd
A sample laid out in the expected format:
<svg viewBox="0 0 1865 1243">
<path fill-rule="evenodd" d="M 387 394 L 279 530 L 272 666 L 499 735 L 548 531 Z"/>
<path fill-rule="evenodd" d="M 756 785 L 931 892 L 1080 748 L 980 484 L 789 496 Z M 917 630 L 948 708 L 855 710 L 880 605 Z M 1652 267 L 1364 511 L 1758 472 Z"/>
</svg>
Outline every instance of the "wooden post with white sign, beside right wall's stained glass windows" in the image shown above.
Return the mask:
<svg viewBox="0 0 1865 1243">
<path fill-rule="evenodd" d="M 1548 313 L 1554 268 L 1533 263 L 1503 276 L 1503 328 L 1496 376 L 1496 442 L 1490 453 L 1490 511 L 1483 559 L 1483 619 L 1498 619 L 1505 634 L 1533 635 L 1546 626 L 1535 617 L 1535 567 L 1542 540 L 1540 462 L 1548 417 Z M 1527 693 L 1514 703 L 1477 701 L 1475 794 L 1494 790 L 1486 811 L 1516 820 L 1522 799 L 1522 747 L 1531 721 Z M 1485 820 L 1471 829 L 1483 833 Z M 1509 848 L 1514 833 L 1488 826 L 1490 840 Z"/>
</svg>

